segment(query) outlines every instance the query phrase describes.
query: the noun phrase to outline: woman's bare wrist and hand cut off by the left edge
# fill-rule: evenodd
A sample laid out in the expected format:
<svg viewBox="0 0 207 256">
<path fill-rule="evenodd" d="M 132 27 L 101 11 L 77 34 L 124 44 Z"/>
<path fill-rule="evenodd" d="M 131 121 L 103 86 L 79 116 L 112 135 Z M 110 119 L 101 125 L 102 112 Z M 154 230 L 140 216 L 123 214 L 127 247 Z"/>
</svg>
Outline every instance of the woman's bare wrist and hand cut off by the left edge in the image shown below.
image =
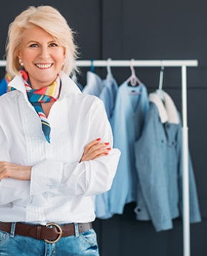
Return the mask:
<svg viewBox="0 0 207 256">
<path fill-rule="evenodd" d="M 16 180 L 30 180 L 32 166 L 15 165 L 0 161 L 0 180 L 3 178 L 14 178 Z"/>
</svg>

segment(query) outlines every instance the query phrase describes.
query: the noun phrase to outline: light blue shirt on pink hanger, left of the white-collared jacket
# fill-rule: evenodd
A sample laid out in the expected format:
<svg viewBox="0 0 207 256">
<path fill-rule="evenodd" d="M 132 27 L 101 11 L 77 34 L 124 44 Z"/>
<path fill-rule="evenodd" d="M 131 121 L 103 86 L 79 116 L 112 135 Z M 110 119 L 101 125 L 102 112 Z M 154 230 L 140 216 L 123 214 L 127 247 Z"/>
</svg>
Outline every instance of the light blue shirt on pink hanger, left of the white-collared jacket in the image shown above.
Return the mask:
<svg viewBox="0 0 207 256">
<path fill-rule="evenodd" d="M 148 106 L 148 91 L 144 84 L 132 87 L 126 82 L 122 83 L 110 119 L 114 147 L 122 153 L 112 188 L 108 192 L 110 214 L 122 214 L 125 204 L 136 199 L 134 143 L 140 137 Z"/>
</svg>

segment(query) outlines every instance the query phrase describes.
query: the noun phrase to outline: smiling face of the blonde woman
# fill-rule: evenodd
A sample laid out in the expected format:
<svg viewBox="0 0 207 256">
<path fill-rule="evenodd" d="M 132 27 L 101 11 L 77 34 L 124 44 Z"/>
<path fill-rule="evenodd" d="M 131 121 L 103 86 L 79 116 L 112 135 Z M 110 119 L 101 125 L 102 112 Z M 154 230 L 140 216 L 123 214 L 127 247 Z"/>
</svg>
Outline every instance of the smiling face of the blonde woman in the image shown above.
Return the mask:
<svg viewBox="0 0 207 256">
<path fill-rule="evenodd" d="M 24 63 L 32 88 L 52 84 L 62 68 L 64 57 L 64 47 L 42 28 L 24 30 L 18 58 Z"/>
</svg>

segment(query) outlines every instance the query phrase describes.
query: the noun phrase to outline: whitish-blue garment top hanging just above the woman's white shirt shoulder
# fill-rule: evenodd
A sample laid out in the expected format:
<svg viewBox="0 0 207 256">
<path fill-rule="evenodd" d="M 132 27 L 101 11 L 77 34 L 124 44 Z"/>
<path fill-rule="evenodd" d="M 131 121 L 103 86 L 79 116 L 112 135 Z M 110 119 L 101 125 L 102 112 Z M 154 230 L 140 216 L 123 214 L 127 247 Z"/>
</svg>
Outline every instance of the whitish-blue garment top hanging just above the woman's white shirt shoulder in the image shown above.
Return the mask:
<svg viewBox="0 0 207 256">
<path fill-rule="evenodd" d="M 87 71 L 87 82 L 84 88 L 82 89 L 82 93 L 95 95 L 97 97 L 100 96 L 102 92 L 102 79 L 97 74 Z"/>
</svg>

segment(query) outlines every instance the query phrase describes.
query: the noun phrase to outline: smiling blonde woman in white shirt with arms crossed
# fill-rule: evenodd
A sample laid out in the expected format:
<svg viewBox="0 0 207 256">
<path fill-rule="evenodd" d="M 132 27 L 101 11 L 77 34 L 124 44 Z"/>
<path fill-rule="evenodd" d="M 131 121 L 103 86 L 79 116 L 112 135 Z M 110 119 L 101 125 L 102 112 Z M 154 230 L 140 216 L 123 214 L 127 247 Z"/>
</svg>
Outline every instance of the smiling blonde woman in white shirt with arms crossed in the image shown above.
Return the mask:
<svg viewBox="0 0 207 256">
<path fill-rule="evenodd" d="M 0 255 L 99 255 L 93 198 L 110 189 L 120 157 L 104 105 L 69 75 L 76 47 L 51 6 L 9 27 L 0 99 Z"/>
</svg>

